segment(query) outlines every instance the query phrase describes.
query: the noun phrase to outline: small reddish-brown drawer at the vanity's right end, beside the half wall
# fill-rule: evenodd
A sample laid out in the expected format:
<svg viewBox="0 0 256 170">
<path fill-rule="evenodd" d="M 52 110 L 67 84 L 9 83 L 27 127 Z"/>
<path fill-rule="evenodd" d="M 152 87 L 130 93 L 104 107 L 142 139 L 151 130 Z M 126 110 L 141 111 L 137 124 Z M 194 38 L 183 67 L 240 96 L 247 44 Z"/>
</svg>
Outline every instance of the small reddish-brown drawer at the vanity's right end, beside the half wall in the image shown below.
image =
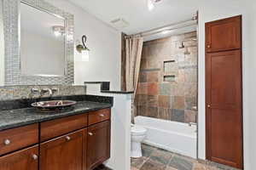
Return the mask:
<svg viewBox="0 0 256 170">
<path fill-rule="evenodd" d="M 102 109 L 100 111 L 92 111 L 88 116 L 88 125 L 98 122 L 107 121 L 110 119 L 110 109 Z"/>
</svg>

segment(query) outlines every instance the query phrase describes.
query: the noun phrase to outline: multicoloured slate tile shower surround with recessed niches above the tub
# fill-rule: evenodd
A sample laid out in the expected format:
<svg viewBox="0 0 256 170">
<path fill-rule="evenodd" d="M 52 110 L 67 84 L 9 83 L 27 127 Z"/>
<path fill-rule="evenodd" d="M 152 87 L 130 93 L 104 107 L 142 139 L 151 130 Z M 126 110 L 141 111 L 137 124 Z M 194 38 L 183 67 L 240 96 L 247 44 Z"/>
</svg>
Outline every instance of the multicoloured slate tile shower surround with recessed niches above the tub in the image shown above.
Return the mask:
<svg viewBox="0 0 256 170">
<path fill-rule="evenodd" d="M 196 122 L 196 32 L 143 44 L 135 116 Z"/>
</svg>

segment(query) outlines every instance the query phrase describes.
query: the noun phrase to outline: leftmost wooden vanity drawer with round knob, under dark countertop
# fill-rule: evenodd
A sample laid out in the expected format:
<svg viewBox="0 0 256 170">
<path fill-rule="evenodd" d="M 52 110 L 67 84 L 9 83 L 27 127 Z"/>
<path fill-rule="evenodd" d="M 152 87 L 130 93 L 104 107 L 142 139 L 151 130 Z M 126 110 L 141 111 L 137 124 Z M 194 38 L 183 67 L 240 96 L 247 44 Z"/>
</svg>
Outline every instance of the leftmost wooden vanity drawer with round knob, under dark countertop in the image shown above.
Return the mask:
<svg viewBox="0 0 256 170">
<path fill-rule="evenodd" d="M 38 143 L 38 124 L 0 132 L 0 155 Z"/>
</svg>

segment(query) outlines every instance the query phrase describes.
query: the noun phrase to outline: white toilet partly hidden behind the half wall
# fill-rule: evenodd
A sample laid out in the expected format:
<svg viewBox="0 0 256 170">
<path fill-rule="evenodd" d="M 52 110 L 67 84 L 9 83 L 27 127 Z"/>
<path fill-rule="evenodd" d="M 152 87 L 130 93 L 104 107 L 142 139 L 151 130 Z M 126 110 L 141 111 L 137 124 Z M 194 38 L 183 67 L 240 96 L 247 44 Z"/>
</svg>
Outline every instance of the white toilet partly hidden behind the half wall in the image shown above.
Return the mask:
<svg viewBox="0 0 256 170">
<path fill-rule="evenodd" d="M 146 132 L 146 128 L 131 124 L 131 157 L 138 158 L 143 156 L 142 142 L 146 137 Z"/>
</svg>

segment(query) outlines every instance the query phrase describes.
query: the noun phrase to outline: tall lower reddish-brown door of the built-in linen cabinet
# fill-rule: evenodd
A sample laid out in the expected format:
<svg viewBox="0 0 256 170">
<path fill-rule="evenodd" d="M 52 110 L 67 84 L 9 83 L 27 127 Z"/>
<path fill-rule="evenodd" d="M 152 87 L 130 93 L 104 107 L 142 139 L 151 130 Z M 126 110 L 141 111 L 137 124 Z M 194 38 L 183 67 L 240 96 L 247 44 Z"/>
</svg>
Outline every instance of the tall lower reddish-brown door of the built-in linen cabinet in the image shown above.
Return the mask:
<svg viewBox="0 0 256 170">
<path fill-rule="evenodd" d="M 207 159 L 242 168 L 241 50 L 207 54 Z"/>
</svg>

